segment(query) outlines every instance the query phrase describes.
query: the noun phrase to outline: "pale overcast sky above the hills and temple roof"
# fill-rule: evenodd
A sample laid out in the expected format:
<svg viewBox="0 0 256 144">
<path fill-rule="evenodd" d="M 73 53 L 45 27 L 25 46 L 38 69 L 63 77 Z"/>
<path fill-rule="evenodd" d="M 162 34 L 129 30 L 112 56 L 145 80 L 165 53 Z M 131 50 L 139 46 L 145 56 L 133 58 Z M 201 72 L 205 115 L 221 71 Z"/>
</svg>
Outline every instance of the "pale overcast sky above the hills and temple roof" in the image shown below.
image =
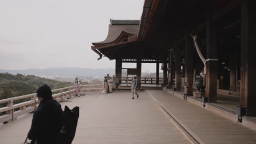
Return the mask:
<svg viewBox="0 0 256 144">
<path fill-rule="evenodd" d="M 0 69 L 115 68 L 91 50 L 109 19 L 139 20 L 144 0 L 1 0 Z M 124 67 L 132 67 L 124 65 Z M 142 65 L 143 71 L 150 69 Z"/>
</svg>

